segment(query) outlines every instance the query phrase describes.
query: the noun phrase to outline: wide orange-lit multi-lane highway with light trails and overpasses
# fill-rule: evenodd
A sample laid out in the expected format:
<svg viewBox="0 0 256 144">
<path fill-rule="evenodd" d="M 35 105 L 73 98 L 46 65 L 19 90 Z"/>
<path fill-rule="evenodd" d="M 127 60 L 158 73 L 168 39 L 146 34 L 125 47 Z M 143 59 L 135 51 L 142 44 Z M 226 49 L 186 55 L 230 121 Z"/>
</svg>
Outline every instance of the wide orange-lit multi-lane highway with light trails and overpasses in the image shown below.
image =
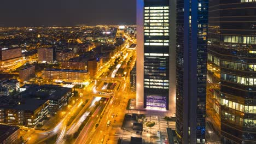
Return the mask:
<svg viewBox="0 0 256 144">
<path fill-rule="evenodd" d="M 130 97 L 127 91 L 129 74 L 135 64 L 136 53 L 135 50 L 126 49 L 129 45 L 126 41 L 123 48 L 98 70 L 94 77 L 95 82 L 86 91 L 79 91 L 82 99 L 63 113 L 62 119 L 54 128 L 43 132 L 34 130 L 27 143 L 42 143 L 54 135 L 57 135 L 55 143 L 67 143 L 66 137 L 74 135 L 86 118 L 84 128 L 77 139 L 73 139 L 74 143 L 117 143 L 117 137 L 110 137 L 113 137 L 113 131 L 120 129 L 123 122 L 124 110 Z M 130 67 L 127 67 L 127 62 L 131 60 Z M 84 105 L 85 95 L 89 100 Z M 82 104 L 84 106 L 80 109 Z M 72 116 L 75 118 L 70 123 L 68 121 Z M 110 124 L 107 126 L 108 121 Z"/>
</svg>

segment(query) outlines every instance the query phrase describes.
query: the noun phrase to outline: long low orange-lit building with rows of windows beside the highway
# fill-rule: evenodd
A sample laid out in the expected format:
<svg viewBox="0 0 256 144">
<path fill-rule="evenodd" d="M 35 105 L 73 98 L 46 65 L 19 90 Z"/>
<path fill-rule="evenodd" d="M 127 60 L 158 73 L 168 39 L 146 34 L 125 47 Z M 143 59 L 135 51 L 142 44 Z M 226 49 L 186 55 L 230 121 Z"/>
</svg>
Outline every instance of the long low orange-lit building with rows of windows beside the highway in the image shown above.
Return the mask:
<svg viewBox="0 0 256 144">
<path fill-rule="evenodd" d="M 61 80 L 67 82 L 84 82 L 89 79 L 87 70 L 78 69 L 45 69 L 42 77 L 46 80 Z"/>
</svg>

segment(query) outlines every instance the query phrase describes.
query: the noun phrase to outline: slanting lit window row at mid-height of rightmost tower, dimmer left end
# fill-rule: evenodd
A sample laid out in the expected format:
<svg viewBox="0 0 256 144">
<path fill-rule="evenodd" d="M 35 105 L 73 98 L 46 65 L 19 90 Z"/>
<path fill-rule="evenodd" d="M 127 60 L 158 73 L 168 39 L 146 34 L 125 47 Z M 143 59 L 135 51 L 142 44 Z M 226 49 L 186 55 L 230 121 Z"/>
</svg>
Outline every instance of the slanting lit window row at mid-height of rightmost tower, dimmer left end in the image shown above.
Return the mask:
<svg viewBox="0 0 256 144">
<path fill-rule="evenodd" d="M 255 86 L 256 85 L 256 78 L 246 78 L 236 75 L 230 75 L 230 74 L 221 74 L 221 79 L 231 82 L 236 82 L 241 85 L 247 85 L 247 86 Z"/>
</svg>

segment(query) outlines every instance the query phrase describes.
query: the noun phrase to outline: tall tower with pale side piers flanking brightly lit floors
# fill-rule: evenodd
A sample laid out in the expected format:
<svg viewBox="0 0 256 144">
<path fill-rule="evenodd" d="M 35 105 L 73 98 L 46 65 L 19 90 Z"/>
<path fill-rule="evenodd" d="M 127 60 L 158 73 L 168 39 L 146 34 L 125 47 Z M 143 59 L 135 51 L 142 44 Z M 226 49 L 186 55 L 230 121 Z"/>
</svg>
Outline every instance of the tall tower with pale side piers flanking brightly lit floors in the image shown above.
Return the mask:
<svg viewBox="0 0 256 144">
<path fill-rule="evenodd" d="M 137 1 L 136 93 L 139 109 L 175 112 L 175 22 L 170 27 L 169 5 L 169 0 Z M 171 11 L 175 13 L 174 8 Z"/>
</svg>

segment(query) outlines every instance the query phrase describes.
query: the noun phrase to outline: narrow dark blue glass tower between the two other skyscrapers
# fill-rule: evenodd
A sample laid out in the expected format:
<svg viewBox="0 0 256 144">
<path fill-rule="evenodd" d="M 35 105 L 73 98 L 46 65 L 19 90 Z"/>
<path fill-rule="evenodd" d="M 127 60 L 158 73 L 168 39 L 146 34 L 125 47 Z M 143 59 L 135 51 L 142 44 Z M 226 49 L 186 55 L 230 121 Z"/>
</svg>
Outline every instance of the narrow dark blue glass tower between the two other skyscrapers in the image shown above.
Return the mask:
<svg viewBox="0 0 256 144">
<path fill-rule="evenodd" d="M 208 0 L 176 4 L 176 132 L 179 143 L 204 143 Z"/>
</svg>

